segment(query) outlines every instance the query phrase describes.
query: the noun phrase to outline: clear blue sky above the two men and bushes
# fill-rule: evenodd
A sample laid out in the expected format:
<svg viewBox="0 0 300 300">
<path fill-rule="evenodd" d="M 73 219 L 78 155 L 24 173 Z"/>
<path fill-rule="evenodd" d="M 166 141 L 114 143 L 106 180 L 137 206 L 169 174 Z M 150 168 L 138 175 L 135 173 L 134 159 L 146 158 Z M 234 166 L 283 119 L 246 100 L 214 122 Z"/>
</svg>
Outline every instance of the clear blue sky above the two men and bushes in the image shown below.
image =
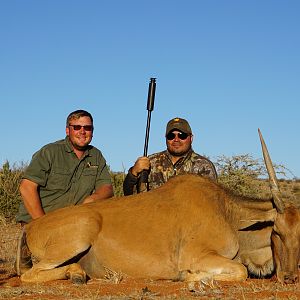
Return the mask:
<svg viewBox="0 0 300 300">
<path fill-rule="evenodd" d="M 300 177 L 300 2 L 279 0 L 0 0 L 0 166 L 64 138 L 76 109 L 114 171 L 148 153 L 169 119 L 190 121 L 193 148 L 261 158 Z"/>
</svg>

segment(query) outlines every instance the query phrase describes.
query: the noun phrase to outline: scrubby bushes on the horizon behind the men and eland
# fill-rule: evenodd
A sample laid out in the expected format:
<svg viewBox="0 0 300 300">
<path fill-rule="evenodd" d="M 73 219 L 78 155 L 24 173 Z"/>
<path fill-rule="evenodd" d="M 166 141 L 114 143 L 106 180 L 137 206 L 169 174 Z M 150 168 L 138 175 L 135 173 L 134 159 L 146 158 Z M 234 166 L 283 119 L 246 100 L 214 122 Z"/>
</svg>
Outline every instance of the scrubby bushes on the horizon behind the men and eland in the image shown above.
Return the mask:
<svg viewBox="0 0 300 300">
<path fill-rule="evenodd" d="M 266 170 L 263 161 L 251 155 L 220 156 L 214 162 L 217 168 L 218 181 L 234 193 L 257 198 L 268 197 L 269 188 L 266 181 Z M 11 165 L 8 161 L 0 167 L 0 218 L 13 220 L 21 201 L 18 191 L 25 164 Z M 283 197 L 294 201 L 300 198 L 300 181 L 282 165 L 275 165 L 277 174 L 285 179 L 280 180 Z M 125 171 L 110 171 L 114 192 L 117 197 L 123 196 Z M 291 179 L 292 177 L 292 179 Z"/>
</svg>

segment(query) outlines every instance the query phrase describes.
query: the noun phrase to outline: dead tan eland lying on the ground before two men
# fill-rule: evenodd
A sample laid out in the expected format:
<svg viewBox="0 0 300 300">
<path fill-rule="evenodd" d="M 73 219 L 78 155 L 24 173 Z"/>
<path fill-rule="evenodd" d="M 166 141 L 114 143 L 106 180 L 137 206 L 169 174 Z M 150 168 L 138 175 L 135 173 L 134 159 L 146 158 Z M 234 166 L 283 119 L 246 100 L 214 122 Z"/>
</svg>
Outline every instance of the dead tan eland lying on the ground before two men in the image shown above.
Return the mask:
<svg viewBox="0 0 300 300">
<path fill-rule="evenodd" d="M 259 132 L 260 134 L 260 132 Z M 274 268 L 298 281 L 300 211 L 280 197 L 261 137 L 272 199 L 238 197 L 194 175 L 142 194 L 51 212 L 25 227 L 34 258 L 24 282 L 103 278 L 245 280 Z"/>
</svg>

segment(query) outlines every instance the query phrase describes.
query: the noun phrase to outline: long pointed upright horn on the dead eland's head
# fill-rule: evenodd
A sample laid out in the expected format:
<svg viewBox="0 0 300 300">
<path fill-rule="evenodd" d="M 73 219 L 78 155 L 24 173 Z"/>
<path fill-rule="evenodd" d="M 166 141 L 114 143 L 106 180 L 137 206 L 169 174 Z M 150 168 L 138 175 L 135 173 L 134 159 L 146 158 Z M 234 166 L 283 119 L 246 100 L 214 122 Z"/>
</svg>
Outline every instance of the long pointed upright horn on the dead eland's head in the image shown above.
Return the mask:
<svg viewBox="0 0 300 300">
<path fill-rule="evenodd" d="M 259 134 L 259 138 L 260 138 L 260 143 L 261 143 L 261 148 L 262 148 L 262 152 L 263 152 L 263 156 L 264 156 L 264 161 L 265 161 L 265 165 L 269 174 L 269 183 L 270 183 L 270 189 L 271 189 L 271 194 L 275 203 L 275 206 L 277 208 L 277 211 L 279 213 L 283 213 L 284 211 L 284 203 L 282 201 L 282 199 L 280 198 L 280 191 L 279 191 L 279 186 L 278 186 L 278 182 L 277 182 L 277 178 L 276 178 L 276 173 L 267 149 L 267 146 L 265 144 L 265 141 L 262 137 L 262 134 L 258 128 L 258 134 Z"/>
</svg>

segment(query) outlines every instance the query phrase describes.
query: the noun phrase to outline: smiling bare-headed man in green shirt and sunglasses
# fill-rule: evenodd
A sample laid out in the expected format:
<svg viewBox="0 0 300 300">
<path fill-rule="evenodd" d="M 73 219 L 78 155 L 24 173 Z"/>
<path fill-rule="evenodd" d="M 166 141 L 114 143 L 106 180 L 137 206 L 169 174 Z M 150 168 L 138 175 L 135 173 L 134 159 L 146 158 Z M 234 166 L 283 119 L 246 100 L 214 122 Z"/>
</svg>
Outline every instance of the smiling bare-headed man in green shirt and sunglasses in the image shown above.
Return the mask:
<svg viewBox="0 0 300 300">
<path fill-rule="evenodd" d="M 92 115 L 76 110 L 67 117 L 66 138 L 33 155 L 20 184 L 23 201 L 18 222 L 28 223 L 62 207 L 113 196 L 106 161 L 101 151 L 90 145 L 93 130 Z M 20 240 L 19 247 L 26 248 L 25 234 Z"/>
</svg>

